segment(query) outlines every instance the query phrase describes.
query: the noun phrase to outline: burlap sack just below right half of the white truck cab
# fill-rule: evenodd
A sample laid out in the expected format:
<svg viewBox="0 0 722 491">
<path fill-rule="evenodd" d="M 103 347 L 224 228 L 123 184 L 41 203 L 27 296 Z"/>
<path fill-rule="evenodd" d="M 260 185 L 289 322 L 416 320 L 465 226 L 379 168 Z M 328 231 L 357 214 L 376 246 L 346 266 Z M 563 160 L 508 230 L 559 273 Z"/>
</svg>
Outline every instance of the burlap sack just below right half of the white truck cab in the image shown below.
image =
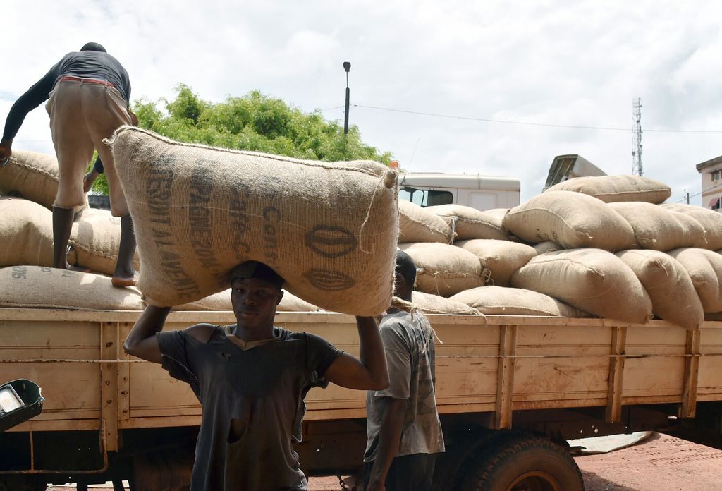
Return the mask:
<svg viewBox="0 0 722 491">
<path fill-rule="evenodd" d="M 461 204 L 440 204 L 426 207 L 426 211 L 443 218 L 456 232 L 457 240 L 508 240 L 508 233 L 502 226 L 503 219 L 493 214 L 479 212 L 476 208 Z"/>
</svg>

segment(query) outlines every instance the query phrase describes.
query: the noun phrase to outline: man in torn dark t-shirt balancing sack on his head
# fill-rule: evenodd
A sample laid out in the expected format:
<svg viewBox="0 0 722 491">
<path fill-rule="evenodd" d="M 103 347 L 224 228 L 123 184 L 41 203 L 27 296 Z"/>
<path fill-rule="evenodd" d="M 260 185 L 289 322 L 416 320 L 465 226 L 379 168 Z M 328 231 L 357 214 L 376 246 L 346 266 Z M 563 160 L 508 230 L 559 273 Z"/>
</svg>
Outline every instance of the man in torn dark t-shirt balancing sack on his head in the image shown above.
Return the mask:
<svg viewBox="0 0 722 491">
<path fill-rule="evenodd" d="M 160 332 L 170 307 L 148 305 L 123 348 L 161 363 L 201 401 L 191 490 L 306 490 L 292 446 L 301 438 L 303 398 L 329 381 L 362 390 L 388 386 L 378 326 L 356 318 L 357 359 L 314 334 L 274 326 L 284 280 L 269 266 L 247 261 L 230 279 L 232 326 Z"/>
</svg>

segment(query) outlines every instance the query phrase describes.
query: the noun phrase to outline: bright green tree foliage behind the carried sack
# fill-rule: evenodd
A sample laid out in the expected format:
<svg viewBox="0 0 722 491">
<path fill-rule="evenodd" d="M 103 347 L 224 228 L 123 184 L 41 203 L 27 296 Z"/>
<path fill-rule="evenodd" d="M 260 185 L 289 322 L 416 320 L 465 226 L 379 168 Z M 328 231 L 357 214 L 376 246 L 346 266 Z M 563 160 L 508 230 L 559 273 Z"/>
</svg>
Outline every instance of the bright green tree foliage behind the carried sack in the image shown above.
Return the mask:
<svg viewBox="0 0 722 491">
<path fill-rule="evenodd" d="M 391 160 L 391 152 L 364 144 L 357 126 L 344 135 L 343 125 L 326 121 L 319 110 L 303 113 L 257 90 L 209 103 L 191 87 L 178 84 L 174 100 L 136 100 L 133 111 L 139 126 L 179 142 L 329 162 L 376 160 L 388 165 Z M 104 176 L 93 189 L 107 193 Z"/>
</svg>

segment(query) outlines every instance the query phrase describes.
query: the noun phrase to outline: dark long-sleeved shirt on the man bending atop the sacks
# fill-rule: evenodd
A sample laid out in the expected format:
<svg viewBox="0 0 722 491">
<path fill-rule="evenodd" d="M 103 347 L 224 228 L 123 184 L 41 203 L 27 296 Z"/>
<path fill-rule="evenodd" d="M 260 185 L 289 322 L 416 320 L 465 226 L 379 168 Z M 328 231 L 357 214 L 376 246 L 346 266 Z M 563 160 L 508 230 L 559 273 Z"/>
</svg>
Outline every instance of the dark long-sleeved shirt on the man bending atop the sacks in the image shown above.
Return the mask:
<svg viewBox="0 0 722 491">
<path fill-rule="evenodd" d="M 27 113 L 50 98 L 50 92 L 60 77 L 75 77 L 108 80 L 113 87 L 130 103 L 131 82 L 128 72 L 120 61 L 103 51 L 78 51 L 68 53 L 53 68 L 21 95 L 12 105 L 5 121 L 3 139 L 13 139 L 22 126 Z"/>
</svg>

